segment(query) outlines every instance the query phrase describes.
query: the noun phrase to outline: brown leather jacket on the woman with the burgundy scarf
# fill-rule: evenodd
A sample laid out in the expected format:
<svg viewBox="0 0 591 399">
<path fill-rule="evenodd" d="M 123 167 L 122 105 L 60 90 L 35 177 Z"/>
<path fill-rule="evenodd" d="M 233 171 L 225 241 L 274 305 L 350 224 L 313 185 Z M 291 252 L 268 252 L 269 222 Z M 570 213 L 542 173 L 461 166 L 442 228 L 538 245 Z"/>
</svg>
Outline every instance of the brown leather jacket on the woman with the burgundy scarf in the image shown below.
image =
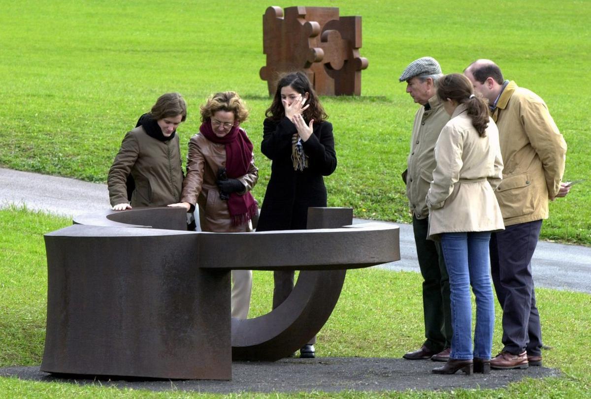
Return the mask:
<svg viewBox="0 0 591 399">
<path fill-rule="evenodd" d="M 183 182 L 181 202 L 199 205 L 201 230 L 215 233 L 243 233 L 252 231 L 250 223 L 233 226 L 228 202 L 220 199 L 217 188 L 217 171 L 226 167 L 226 146 L 207 140 L 197 134 L 189 140 L 187 176 Z M 251 191 L 258 180 L 258 168 L 254 156 L 248 173 L 240 178 L 245 192 Z"/>
</svg>

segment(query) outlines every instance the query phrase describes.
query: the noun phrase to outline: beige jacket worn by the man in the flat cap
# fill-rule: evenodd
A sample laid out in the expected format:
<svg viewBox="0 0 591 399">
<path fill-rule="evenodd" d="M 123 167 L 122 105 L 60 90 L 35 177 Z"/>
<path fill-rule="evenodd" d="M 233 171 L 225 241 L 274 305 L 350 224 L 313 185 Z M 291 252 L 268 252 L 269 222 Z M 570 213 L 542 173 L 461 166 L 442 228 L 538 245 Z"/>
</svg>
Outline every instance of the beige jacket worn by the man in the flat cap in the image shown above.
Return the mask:
<svg viewBox="0 0 591 399">
<path fill-rule="evenodd" d="M 428 217 L 429 210 L 425 196 L 433 180 L 435 155 L 433 149 L 449 115 L 437 96 L 429 99 L 430 110 L 421 106 L 414 116 L 413 134 L 410 141 L 410 154 L 407 159 L 407 197 L 410 211 L 418 219 Z"/>
</svg>

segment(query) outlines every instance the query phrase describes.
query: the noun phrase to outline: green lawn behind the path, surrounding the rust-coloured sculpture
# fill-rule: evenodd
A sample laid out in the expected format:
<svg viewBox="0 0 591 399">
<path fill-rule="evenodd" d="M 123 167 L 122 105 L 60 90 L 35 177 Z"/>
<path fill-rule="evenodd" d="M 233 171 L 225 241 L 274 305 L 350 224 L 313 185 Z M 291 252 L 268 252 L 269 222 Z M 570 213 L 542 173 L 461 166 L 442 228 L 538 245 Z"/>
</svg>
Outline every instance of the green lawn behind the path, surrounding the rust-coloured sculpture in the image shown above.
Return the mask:
<svg viewBox="0 0 591 399">
<path fill-rule="evenodd" d="M 199 127 L 199 104 L 219 90 L 248 103 L 245 127 L 260 169 L 262 200 L 270 162 L 261 156 L 269 105 L 258 71 L 262 14 L 273 3 L 187 0 L 2 1 L 0 12 L 0 166 L 104 182 L 124 133 L 166 91 L 180 91 Z M 291 6 L 293 3 L 277 2 Z M 329 205 L 355 215 L 410 221 L 405 168 L 413 104 L 398 83 L 404 67 L 432 55 L 444 72 L 476 58 L 495 60 L 508 79 L 540 94 L 569 145 L 565 179 L 589 176 L 591 2 L 433 0 L 322 1 L 341 15 L 362 15 L 369 68 L 361 97 L 325 98 L 335 126 L 339 166 L 326 179 Z M 183 152 L 186 148 L 183 145 Z M 591 183 L 551 204 L 547 239 L 591 244 Z"/>
</svg>

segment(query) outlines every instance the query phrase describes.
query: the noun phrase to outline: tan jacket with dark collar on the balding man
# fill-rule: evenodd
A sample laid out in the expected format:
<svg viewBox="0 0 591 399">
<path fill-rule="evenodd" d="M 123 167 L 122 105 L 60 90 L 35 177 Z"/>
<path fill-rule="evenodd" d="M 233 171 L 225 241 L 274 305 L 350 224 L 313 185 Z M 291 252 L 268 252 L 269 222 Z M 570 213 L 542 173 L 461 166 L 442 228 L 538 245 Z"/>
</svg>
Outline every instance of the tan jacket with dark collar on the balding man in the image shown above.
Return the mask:
<svg viewBox="0 0 591 399">
<path fill-rule="evenodd" d="M 548 197 L 560 189 L 566 142 L 537 94 L 509 82 L 492 114 L 505 168 L 496 189 L 505 225 L 548 218 Z"/>
</svg>

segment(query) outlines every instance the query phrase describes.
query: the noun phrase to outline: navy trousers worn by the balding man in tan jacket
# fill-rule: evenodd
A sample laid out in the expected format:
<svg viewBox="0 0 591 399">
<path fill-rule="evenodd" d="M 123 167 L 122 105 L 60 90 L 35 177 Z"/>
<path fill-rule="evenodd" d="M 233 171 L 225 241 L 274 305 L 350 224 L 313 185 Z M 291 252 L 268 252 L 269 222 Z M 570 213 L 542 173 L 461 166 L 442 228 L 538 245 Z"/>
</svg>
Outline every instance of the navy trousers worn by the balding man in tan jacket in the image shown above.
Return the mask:
<svg viewBox="0 0 591 399">
<path fill-rule="evenodd" d="M 496 297 L 503 309 L 504 351 L 527 351 L 540 356 L 542 331 L 535 306 L 531 257 L 538 243 L 541 220 L 505 227 L 491 236 L 491 274 Z"/>
</svg>

